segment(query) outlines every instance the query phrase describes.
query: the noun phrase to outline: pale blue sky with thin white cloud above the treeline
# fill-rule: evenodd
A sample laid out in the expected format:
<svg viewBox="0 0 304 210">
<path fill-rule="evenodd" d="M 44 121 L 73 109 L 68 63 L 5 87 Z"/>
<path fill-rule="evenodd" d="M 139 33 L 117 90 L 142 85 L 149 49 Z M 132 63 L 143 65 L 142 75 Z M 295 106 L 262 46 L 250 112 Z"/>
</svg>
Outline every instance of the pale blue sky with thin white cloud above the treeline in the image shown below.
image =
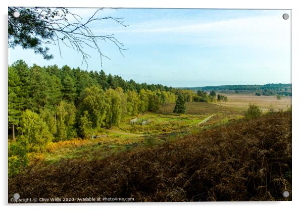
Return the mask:
<svg viewBox="0 0 304 210">
<path fill-rule="evenodd" d="M 87 20 L 96 9 L 71 8 Z M 96 49 L 84 47 L 91 58 L 88 67 L 71 48 L 50 45 L 54 59 L 46 61 L 31 49 L 9 48 L 9 65 L 68 65 L 84 70 L 120 75 L 126 80 L 173 87 L 207 85 L 291 83 L 290 10 L 212 9 L 104 9 L 96 17 L 122 17 L 124 27 L 113 20 L 93 22 L 95 35 L 115 34 L 127 50 L 123 56 L 110 42 Z M 69 19 L 70 20 L 70 19 Z"/>
</svg>

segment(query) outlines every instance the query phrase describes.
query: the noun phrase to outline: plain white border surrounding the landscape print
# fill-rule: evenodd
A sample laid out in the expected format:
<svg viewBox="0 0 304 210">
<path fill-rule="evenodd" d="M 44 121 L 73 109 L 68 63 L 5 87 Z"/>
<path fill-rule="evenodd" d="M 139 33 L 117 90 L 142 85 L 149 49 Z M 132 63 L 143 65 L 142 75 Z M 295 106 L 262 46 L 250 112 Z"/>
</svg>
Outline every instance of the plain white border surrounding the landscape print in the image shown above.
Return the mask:
<svg viewBox="0 0 304 210">
<path fill-rule="evenodd" d="M 303 121 L 303 60 L 304 60 L 304 45 L 303 45 L 303 20 L 304 20 L 304 8 L 300 4 L 301 1 L 265 1 L 265 0 L 251 0 L 251 1 L 241 1 L 241 0 L 216 0 L 216 1 L 178 1 L 178 0 L 154 0 L 154 1 L 142 1 L 142 0 L 133 0 L 133 1 L 62 1 L 62 0 L 52 0 L 52 1 L 35 1 L 35 0 L 26 0 L 26 1 L 15 1 L 11 0 L 6 2 L 1 2 L 1 40 L 2 40 L 2 50 L 1 50 L 1 64 L 2 69 L 0 70 L 1 78 L 1 91 L 0 98 L 1 102 L 1 133 L 2 138 L 2 161 L 1 167 L 1 182 L 2 187 L 0 189 L 0 198 L 1 204 L 5 205 L 5 208 L 8 208 L 7 205 L 7 82 L 8 82 L 8 50 L 7 50 L 7 14 L 8 6 L 44 6 L 44 7 L 126 7 L 126 8 L 223 8 L 223 9 L 291 9 L 292 10 L 292 200 L 290 202 L 205 202 L 205 203 L 106 203 L 106 204 L 63 204 L 62 208 L 72 207 L 74 209 L 83 209 L 83 205 L 87 205 L 87 208 L 124 208 L 124 209 L 134 209 L 134 208 L 144 208 L 144 209 L 155 209 L 155 208 L 177 208 L 184 209 L 185 207 L 191 208 L 212 208 L 212 209 L 257 209 L 257 208 L 276 208 L 276 209 L 289 209 L 289 208 L 299 208 L 303 206 L 302 204 L 302 195 L 304 194 L 302 175 L 303 167 L 303 141 L 302 137 L 302 121 Z M 22 206 L 10 206 L 10 208 L 22 208 L 22 209 L 53 209 L 54 204 L 44 204 L 40 205 L 22 205 Z"/>
</svg>

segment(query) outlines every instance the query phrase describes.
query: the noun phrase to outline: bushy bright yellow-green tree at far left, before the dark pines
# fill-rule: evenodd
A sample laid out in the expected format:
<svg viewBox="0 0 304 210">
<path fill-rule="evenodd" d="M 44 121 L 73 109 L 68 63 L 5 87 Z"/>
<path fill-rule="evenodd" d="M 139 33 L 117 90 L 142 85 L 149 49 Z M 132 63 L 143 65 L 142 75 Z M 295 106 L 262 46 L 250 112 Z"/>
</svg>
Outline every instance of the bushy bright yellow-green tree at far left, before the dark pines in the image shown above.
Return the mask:
<svg viewBox="0 0 304 210">
<path fill-rule="evenodd" d="M 26 110 L 21 115 L 20 127 L 22 135 L 17 141 L 28 151 L 43 151 L 45 145 L 53 139 L 46 123 L 41 120 L 38 114 Z"/>
</svg>

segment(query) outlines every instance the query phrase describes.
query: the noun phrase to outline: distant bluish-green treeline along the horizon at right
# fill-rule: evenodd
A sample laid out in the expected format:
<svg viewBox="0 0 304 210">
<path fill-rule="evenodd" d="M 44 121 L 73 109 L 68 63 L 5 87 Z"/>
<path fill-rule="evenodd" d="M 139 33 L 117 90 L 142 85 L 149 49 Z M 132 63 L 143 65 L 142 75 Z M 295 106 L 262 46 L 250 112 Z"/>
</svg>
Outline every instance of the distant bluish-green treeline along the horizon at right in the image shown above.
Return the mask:
<svg viewBox="0 0 304 210">
<path fill-rule="evenodd" d="M 257 92 L 260 95 L 286 95 L 291 96 L 291 84 L 265 84 L 265 85 L 220 85 L 220 86 L 204 86 L 204 87 L 186 87 L 193 91 L 234 91 L 234 92 Z"/>
</svg>

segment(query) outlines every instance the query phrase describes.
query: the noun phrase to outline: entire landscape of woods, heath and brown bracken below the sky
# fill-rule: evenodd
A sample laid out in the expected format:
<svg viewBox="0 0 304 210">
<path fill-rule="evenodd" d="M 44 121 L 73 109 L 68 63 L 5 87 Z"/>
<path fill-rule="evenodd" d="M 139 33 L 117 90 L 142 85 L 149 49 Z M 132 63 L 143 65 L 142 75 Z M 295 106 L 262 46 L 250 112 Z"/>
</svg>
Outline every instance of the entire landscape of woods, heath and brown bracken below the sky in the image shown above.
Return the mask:
<svg viewBox="0 0 304 210">
<path fill-rule="evenodd" d="M 193 91 L 18 61 L 9 196 L 290 200 L 291 85 L 249 87 Z"/>
</svg>

